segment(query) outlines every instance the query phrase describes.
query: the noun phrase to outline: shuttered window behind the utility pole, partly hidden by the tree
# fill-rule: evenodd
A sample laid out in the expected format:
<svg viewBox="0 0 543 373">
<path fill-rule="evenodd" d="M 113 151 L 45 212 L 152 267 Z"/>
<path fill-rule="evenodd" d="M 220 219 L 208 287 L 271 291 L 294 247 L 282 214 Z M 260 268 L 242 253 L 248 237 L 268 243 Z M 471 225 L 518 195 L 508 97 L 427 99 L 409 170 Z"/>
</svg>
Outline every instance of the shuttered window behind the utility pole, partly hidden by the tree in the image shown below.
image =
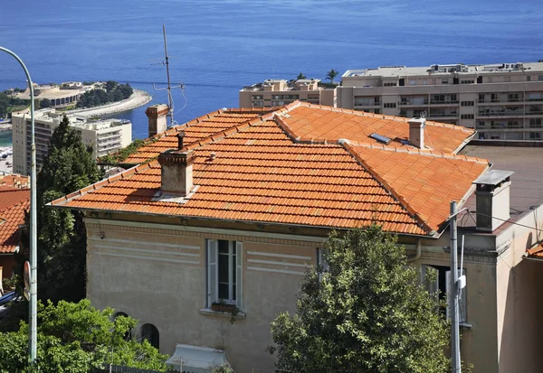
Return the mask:
<svg viewBox="0 0 543 373">
<path fill-rule="evenodd" d="M 459 275 L 460 275 L 460 269 Z M 466 274 L 466 270 L 462 270 L 463 275 Z M 449 310 L 449 293 L 451 288 L 451 270 L 448 266 L 427 266 L 423 265 L 421 267 L 421 275 L 423 284 L 426 286 L 428 293 L 433 294 L 435 297 L 439 298 L 442 301 L 446 301 L 447 304 L 445 309 L 442 312 L 445 314 L 447 319 L 451 318 L 451 312 Z M 466 288 L 462 289 L 462 292 L 458 301 L 459 309 L 459 322 L 467 323 L 468 314 L 467 314 L 467 293 Z"/>
</svg>

